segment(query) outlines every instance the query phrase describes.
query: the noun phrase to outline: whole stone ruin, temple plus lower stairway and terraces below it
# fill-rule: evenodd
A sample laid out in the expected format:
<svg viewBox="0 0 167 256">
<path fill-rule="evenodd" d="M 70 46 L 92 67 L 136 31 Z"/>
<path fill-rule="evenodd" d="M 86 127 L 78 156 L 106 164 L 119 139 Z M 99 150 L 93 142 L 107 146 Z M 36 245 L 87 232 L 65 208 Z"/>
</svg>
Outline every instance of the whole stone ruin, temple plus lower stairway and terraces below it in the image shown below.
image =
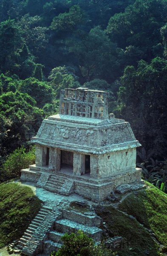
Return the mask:
<svg viewBox="0 0 167 256">
<path fill-rule="evenodd" d="M 110 200 L 120 186 L 143 186 L 141 169 L 136 168 L 140 144 L 130 124 L 108 115 L 107 92 L 65 89 L 60 92 L 59 114 L 44 119 L 31 141 L 36 162 L 21 171 L 21 181 L 30 181 L 48 197 L 17 250 L 48 256 L 62 246 L 65 233 L 78 230 L 100 243 L 102 218 L 93 207 Z"/>
</svg>

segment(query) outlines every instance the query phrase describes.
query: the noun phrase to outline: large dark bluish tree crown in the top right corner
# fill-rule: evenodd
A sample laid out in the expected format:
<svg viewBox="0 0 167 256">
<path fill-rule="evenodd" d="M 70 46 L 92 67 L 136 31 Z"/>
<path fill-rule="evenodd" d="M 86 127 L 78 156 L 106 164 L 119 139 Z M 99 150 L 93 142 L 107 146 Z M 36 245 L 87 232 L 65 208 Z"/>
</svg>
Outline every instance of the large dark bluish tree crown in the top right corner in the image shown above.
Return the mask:
<svg viewBox="0 0 167 256">
<path fill-rule="evenodd" d="M 159 52 L 157 49 L 161 44 L 160 28 L 165 22 L 166 12 L 164 0 L 136 0 L 124 13 L 110 18 L 107 32 L 121 48 L 133 45 L 137 50 L 138 47 L 142 49 L 139 58 L 149 61 L 163 54 L 162 45 Z"/>
</svg>

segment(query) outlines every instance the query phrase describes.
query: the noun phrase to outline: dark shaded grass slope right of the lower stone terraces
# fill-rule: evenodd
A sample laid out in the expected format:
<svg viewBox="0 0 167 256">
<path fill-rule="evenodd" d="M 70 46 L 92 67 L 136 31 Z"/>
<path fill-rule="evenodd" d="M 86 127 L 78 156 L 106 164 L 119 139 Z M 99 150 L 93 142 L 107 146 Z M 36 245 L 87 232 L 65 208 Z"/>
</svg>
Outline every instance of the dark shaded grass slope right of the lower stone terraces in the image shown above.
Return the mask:
<svg viewBox="0 0 167 256">
<path fill-rule="evenodd" d="M 161 255 L 158 244 L 135 219 L 129 218 L 112 206 L 98 207 L 96 213 L 106 222 L 110 237 L 122 236 L 126 239 L 128 246 L 118 250 L 119 256 Z"/>
</svg>

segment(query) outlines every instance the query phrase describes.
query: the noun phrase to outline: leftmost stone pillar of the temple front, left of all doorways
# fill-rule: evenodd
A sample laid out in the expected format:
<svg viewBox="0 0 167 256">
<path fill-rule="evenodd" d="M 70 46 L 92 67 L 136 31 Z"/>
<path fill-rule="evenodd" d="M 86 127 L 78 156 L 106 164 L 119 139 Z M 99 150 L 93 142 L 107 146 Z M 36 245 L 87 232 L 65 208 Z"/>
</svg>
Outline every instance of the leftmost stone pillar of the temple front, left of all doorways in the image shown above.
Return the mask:
<svg viewBox="0 0 167 256">
<path fill-rule="evenodd" d="M 46 146 L 36 145 L 35 150 L 35 164 L 36 166 L 45 166 L 46 165 Z"/>
</svg>

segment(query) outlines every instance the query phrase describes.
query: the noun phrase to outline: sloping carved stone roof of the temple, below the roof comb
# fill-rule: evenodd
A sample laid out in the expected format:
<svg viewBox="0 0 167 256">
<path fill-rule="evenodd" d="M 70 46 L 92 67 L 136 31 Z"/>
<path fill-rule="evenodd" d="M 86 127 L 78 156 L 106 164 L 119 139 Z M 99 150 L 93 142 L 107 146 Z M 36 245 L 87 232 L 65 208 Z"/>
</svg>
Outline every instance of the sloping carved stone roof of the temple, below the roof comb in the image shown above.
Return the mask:
<svg viewBox="0 0 167 256">
<path fill-rule="evenodd" d="M 140 146 L 130 124 L 122 119 L 55 115 L 44 119 L 33 143 L 88 154 Z"/>
</svg>

